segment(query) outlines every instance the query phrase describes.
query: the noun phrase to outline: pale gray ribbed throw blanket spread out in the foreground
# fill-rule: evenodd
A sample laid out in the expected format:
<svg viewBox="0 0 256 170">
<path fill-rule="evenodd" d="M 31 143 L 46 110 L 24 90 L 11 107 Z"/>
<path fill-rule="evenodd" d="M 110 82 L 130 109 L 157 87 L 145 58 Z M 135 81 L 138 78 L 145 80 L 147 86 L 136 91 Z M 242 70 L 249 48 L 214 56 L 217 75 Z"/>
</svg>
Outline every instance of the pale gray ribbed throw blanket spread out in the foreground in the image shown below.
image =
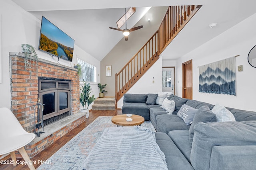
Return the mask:
<svg viewBox="0 0 256 170">
<path fill-rule="evenodd" d="M 86 157 L 84 170 L 167 170 L 155 135 L 144 127 L 110 127 Z"/>
</svg>

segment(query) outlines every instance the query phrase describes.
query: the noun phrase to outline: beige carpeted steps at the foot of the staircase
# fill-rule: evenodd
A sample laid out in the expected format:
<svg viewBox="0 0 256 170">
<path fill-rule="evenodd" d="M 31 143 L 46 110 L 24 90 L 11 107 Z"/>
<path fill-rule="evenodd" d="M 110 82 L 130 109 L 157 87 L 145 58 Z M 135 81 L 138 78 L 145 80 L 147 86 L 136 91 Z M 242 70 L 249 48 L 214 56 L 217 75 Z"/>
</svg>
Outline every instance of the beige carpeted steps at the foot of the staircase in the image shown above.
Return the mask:
<svg viewBox="0 0 256 170">
<path fill-rule="evenodd" d="M 116 109 L 116 98 L 104 97 L 97 98 L 94 100 L 92 110 L 115 110 Z"/>
</svg>

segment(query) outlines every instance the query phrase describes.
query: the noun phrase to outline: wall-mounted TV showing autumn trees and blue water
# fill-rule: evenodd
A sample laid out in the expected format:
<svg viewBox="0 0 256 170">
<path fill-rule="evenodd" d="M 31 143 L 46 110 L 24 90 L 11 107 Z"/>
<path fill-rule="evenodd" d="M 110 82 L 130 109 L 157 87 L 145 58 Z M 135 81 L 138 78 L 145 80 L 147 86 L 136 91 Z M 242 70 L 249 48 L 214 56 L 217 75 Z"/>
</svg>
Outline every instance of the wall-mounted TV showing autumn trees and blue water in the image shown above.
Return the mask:
<svg viewBox="0 0 256 170">
<path fill-rule="evenodd" d="M 61 59 L 72 61 L 74 39 L 42 16 L 38 49 Z"/>
</svg>

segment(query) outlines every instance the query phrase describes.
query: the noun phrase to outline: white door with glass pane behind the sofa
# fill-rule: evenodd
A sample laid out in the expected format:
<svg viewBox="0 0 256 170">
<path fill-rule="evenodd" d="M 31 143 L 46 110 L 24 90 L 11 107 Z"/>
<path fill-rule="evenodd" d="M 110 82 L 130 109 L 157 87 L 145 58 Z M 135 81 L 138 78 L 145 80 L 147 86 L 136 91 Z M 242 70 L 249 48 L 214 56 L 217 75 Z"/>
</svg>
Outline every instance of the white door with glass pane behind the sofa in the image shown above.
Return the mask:
<svg viewBox="0 0 256 170">
<path fill-rule="evenodd" d="M 175 67 L 162 68 L 162 88 L 163 92 L 173 92 L 175 94 Z"/>
</svg>

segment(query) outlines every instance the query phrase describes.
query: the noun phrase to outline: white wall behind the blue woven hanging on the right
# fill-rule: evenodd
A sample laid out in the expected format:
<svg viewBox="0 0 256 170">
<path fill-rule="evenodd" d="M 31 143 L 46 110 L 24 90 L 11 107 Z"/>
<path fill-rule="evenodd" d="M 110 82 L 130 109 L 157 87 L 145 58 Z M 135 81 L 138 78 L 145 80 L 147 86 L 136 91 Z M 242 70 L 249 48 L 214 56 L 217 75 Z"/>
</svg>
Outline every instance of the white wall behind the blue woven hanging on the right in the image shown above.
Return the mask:
<svg viewBox="0 0 256 170">
<path fill-rule="evenodd" d="M 182 96 L 182 63 L 192 59 L 193 99 L 210 104 L 256 111 L 255 84 L 256 68 L 248 64 L 248 53 L 256 45 L 256 14 L 228 29 L 221 35 L 194 49 L 176 61 L 176 95 Z M 221 26 L 221 24 L 220 24 Z M 243 65 L 243 71 L 236 69 L 236 96 L 199 93 L 198 66 L 226 59 L 235 55 L 236 68 Z"/>
</svg>

